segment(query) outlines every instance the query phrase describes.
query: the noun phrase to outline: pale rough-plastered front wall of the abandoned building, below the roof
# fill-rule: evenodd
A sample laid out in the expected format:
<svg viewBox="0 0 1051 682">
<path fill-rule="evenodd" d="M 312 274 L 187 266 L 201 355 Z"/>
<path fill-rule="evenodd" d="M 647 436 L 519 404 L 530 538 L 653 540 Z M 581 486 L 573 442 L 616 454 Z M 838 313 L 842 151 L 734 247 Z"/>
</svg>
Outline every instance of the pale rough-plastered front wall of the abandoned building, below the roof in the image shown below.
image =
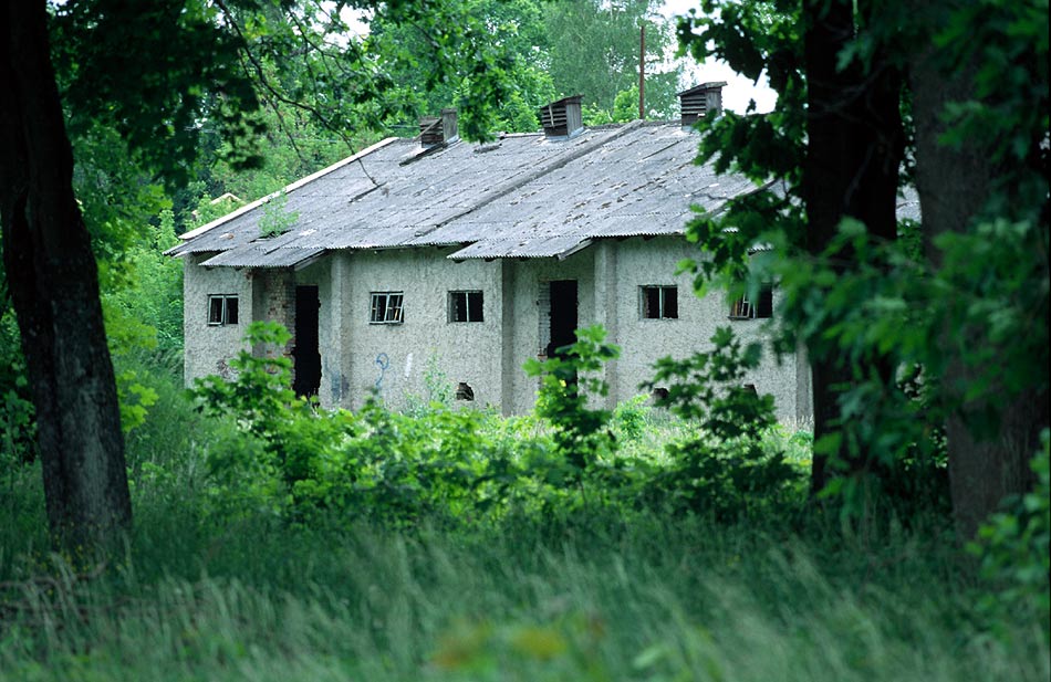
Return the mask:
<svg viewBox="0 0 1051 682">
<path fill-rule="evenodd" d="M 652 380 L 657 358 L 710 348 L 717 327 L 732 327 L 745 343 L 768 335 L 770 321 L 730 321 L 730 303 L 722 293 L 700 300 L 689 275 L 675 276 L 679 261 L 697 255 L 696 246 L 681 238 L 605 240 L 562 261 L 455 263 L 446 258 L 449 252 L 342 252 L 294 273 L 294 280 L 290 270 L 253 276 L 229 269 L 206 271 L 188 260 L 187 380 L 216 373 L 237 353 L 249 309 L 256 318 L 294 328 L 294 285 L 308 284 L 319 287 L 321 300 L 319 397 L 325 407 L 358 408 L 373 390 L 392 407 L 404 407 L 414 398 L 426 400 L 435 388 L 451 392 L 462 381 L 474 390 L 475 406 L 501 406 L 504 413 L 529 411 L 539 384 L 526 376 L 522 365 L 541 355 L 550 338 L 545 292 L 554 280 L 577 282 L 577 325 L 602 324 L 607 339 L 621 347 L 620 360 L 606 369 L 611 406 L 642 392 L 639 384 Z M 646 285 L 677 287 L 678 318 L 643 318 L 639 287 Z M 449 322 L 448 292 L 475 290 L 483 292 L 483 322 Z M 372 292 L 402 292 L 404 322 L 372 324 Z M 209 327 L 208 293 L 241 293 L 253 303 L 242 304 L 240 325 Z M 795 357 L 779 366 L 768 354 L 746 382 L 774 395 L 782 420 L 811 413 L 810 370 Z"/>
</svg>

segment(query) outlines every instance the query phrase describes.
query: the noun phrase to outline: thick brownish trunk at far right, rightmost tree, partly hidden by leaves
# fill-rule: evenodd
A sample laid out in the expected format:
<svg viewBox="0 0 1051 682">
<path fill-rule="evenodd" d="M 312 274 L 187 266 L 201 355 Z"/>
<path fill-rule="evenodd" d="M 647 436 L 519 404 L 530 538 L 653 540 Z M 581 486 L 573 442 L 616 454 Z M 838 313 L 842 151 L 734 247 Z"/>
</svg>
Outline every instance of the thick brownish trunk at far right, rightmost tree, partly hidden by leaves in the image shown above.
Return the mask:
<svg viewBox="0 0 1051 682">
<path fill-rule="evenodd" d="M 909 66 L 913 112 L 916 122 L 916 189 L 923 210 L 926 255 L 934 269 L 941 253 L 933 240 L 944 232 L 966 232 L 993 191 L 997 169 L 982 149 L 981 140 L 960 148 L 939 144 L 946 132 L 943 112 L 949 102 L 974 98 L 972 69 L 946 73 L 934 63 L 930 52 L 916 54 Z M 1039 254 L 1034 254 L 1039 258 Z M 956 334 L 946 329 L 941 347 L 947 354 L 959 347 Z M 976 343 L 981 343 L 976 342 Z M 1045 371 L 1034 368 L 1038 371 Z M 950 356 L 941 380 L 941 391 L 951 400 L 976 374 L 988 368 L 968 368 L 962 358 Z M 1028 391 L 1003 397 L 999 406 L 1003 420 L 999 433 L 977 438 L 968 427 L 968 415 L 984 405 L 965 403 L 946 422 L 949 489 L 953 513 L 961 539 L 974 537 L 978 525 L 1010 494 L 1023 493 L 1033 483 L 1029 461 L 1039 445 L 1039 432 L 1048 423 L 1048 396 Z"/>
</svg>

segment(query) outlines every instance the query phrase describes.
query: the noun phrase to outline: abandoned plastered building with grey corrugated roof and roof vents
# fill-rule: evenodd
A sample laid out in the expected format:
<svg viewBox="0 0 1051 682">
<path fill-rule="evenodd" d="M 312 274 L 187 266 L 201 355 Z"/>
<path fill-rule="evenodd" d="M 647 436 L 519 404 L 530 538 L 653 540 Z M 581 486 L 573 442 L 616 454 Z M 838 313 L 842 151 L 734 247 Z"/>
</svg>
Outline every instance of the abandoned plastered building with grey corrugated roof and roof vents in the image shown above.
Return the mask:
<svg viewBox="0 0 1051 682">
<path fill-rule="evenodd" d="M 621 348 L 607 400 L 653 378 L 653 363 L 704 349 L 715 329 L 762 337 L 777 290 L 758 301 L 694 294 L 677 264 L 684 229 L 753 189 L 694 164 L 690 124 L 720 109 L 724 83 L 684 93 L 683 118 L 594 128 L 580 97 L 544 106 L 543 130 L 490 144 L 457 137 L 456 112 L 388 138 L 181 237 L 185 378 L 228 374 L 252 321 L 292 333 L 294 388 L 326 407 L 371 391 L 395 407 L 450 395 L 504 413 L 532 408 L 529 357 L 601 324 Z M 811 413 L 810 369 L 766 357 L 747 379 L 781 419 Z"/>
</svg>

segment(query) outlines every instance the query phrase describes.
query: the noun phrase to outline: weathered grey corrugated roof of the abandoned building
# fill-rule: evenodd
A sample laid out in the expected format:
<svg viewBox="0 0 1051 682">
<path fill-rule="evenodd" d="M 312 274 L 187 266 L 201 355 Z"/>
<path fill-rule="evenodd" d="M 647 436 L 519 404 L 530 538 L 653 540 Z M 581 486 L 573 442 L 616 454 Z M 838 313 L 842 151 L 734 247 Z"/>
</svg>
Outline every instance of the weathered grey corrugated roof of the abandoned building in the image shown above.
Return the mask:
<svg viewBox="0 0 1051 682">
<path fill-rule="evenodd" d="M 634 122 L 564 140 L 508 135 L 424 149 L 388 139 L 285 188 L 288 232 L 264 239 L 273 195 L 183 235 L 209 266 L 287 267 L 340 249 L 465 245 L 449 258 L 564 258 L 594 239 L 679 234 L 756 189 L 694 164 L 696 134 Z M 425 153 L 426 151 L 426 153 Z"/>
</svg>

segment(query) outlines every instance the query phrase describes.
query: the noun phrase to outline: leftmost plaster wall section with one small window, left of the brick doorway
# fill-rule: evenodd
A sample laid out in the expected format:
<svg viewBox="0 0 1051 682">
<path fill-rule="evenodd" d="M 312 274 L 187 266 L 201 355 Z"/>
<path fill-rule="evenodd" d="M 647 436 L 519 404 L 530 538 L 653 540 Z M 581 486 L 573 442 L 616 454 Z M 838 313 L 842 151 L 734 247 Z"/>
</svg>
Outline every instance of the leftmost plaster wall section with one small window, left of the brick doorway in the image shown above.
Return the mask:
<svg viewBox="0 0 1051 682">
<path fill-rule="evenodd" d="M 252 280 L 247 271 L 200 267 L 212 254 L 186 255 L 183 279 L 183 376 L 186 385 L 198 377 L 217 374 L 231 377 L 229 361 L 241 347 L 241 337 L 252 316 Z M 238 324 L 208 324 L 208 296 L 237 295 Z"/>
</svg>

